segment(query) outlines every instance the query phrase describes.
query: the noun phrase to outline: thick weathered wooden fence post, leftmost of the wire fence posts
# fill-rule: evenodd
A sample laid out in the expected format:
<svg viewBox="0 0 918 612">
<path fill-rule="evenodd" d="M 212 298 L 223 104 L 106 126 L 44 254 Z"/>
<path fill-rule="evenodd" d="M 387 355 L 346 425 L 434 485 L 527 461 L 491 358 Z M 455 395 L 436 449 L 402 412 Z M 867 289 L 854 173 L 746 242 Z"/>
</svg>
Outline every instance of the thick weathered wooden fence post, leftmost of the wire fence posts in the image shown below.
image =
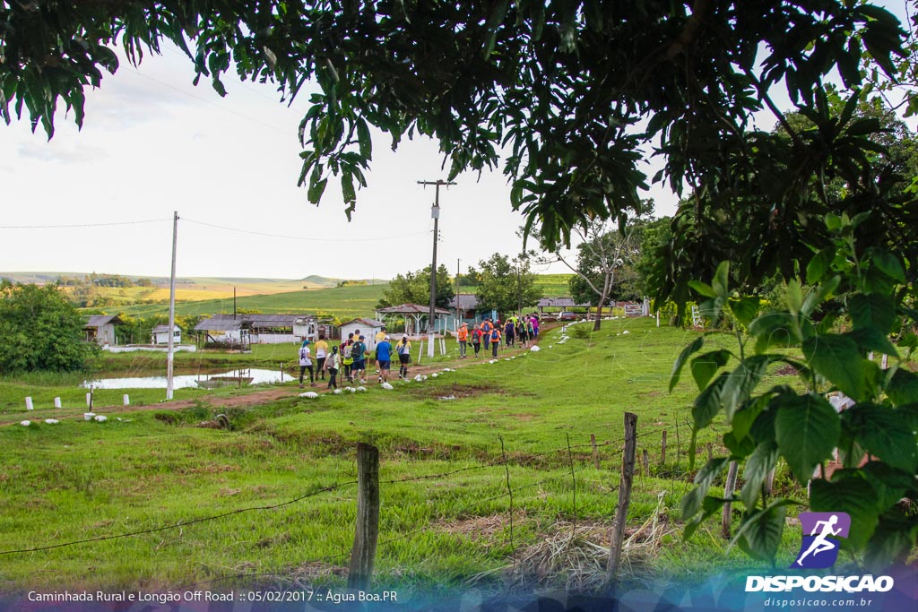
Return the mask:
<svg viewBox="0 0 918 612">
<path fill-rule="evenodd" d="M 357 443 L 357 529 L 353 534 L 347 587 L 365 591 L 373 579 L 379 537 L 379 449 Z"/>
</svg>

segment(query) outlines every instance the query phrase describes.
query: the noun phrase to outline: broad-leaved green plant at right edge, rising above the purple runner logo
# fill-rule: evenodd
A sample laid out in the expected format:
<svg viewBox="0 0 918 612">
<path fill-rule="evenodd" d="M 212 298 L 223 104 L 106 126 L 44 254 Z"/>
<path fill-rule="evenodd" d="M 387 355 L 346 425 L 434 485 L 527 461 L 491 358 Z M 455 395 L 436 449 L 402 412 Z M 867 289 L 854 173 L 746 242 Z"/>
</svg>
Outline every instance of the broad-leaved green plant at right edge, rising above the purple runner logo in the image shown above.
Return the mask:
<svg viewBox="0 0 918 612">
<path fill-rule="evenodd" d="M 717 321 L 726 313 L 740 325 L 734 326 L 737 352 L 703 352 L 705 338 L 696 339 L 679 355 L 670 380 L 672 390 L 688 363 L 700 391 L 692 406 L 689 457 L 699 429 L 721 416 L 730 426 L 723 436 L 730 456 L 704 465 L 683 498 L 687 537 L 725 503 L 739 503 L 744 513 L 733 543 L 774 562 L 786 507 L 796 503 L 765 495 L 767 474 L 782 459 L 800 484 L 812 479 L 813 510 L 851 516 L 851 535 L 842 546 L 863 553 L 868 566 L 901 560 L 912 550 L 918 535 L 918 375 L 904 366 L 918 346 L 910 331 L 918 312 L 899 257 L 876 246 L 857 249 L 855 229 L 868 217 L 826 217 L 834 243 L 812 256 L 807 284 L 789 281 L 782 309 L 761 311 L 758 298 L 732 293 L 725 261 L 711 284 L 689 284 L 707 298 L 700 304 L 705 317 Z M 871 359 L 875 352 L 889 356 L 888 369 Z M 778 363 L 796 370 L 800 389 L 763 388 Z M 836 411 L 830 392 L 846 395 L 853 406 Z M 836 449 L 841 468 L 814 478 L 819 466 L 825 474 Z M 708 495 L 730 462 L 743 465 L 744 484 L 729 499 Z"/>
</svg>

